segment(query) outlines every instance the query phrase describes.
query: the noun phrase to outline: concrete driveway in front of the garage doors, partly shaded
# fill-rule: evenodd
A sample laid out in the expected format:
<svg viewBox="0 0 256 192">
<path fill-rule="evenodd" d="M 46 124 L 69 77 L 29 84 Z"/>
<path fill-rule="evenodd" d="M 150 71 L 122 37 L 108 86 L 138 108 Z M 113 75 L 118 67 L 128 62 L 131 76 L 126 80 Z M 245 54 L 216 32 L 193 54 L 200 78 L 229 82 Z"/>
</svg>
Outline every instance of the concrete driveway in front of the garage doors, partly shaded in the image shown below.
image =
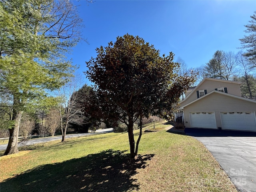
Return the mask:
<svg viewBox="0 0 256 192">
<path fill-rule="evenodd" d="M 202 142 L 241 192 L 256 192 L 256 133 L 185 129 Z"/>
</svg>

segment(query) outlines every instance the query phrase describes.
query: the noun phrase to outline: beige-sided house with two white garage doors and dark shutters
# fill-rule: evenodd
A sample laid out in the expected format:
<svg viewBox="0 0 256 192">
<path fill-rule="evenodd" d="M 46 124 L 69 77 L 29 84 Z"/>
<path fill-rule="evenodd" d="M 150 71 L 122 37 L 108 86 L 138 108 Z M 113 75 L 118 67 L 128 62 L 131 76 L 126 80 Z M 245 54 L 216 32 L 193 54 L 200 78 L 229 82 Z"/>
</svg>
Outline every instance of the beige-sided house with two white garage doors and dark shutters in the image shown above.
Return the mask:
<svg viewBox="0 0 256 192">
<path fill-rule="evenodd" d="M 256 132 L 256 101 L 243 98 L 241 82 L 204 78 L 179 103 L 186 128 Z"/>
</svg>

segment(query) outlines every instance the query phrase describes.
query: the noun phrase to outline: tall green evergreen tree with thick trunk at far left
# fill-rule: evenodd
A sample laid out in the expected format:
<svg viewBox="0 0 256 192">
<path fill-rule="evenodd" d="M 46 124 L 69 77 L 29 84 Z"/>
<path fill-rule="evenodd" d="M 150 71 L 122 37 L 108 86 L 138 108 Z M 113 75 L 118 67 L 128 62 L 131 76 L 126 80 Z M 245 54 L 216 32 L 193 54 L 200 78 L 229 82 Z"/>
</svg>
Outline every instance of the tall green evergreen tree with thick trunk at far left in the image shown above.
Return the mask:
<svg viewBox="0 0 256 192">
<path fill-rule="evenodd" d="M 20 118 L 29 103 L 68 81 L 66 53 L 80 39 L 82 20 L 68 0 L 0 0 L 0 94 L 15 125 L 5 154 L 18 152 Z"/>
</svg>

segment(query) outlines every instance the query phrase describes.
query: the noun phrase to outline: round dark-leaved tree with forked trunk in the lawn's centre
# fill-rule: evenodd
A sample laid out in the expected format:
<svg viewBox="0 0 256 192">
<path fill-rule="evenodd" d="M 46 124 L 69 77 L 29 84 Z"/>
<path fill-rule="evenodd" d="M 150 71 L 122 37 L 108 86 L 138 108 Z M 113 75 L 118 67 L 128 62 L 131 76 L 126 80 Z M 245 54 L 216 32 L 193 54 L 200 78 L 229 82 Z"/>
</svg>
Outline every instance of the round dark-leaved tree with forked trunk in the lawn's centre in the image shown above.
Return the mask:
<svg viewBox="0 0 256 192">
<path fill-rule="evenodd" d="M 159 50 L 138 36 L 117 37 L 114 44 L 110 42 L 96 51 L 98 56 L 86 62 L 85 74 L 95 85 L 97 115 L 128 126 L 130 157 L 134 158 L 141 137 L 140 132 L 135 149 L 134 122 L 172 110 L 182 92 L 194 82 L 195 75 L 178 76 L 174 54 L 160 56 Z"/>
</svg>

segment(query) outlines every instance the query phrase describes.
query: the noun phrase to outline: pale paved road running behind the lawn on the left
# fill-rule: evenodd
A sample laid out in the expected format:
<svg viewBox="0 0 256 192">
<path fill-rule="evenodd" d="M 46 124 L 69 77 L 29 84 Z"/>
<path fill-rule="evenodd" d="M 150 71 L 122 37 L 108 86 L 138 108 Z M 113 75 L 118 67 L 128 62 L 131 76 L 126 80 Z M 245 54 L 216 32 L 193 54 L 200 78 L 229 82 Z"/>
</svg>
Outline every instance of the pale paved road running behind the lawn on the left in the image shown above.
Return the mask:
<svg viewBox="0 0 256 192">
<path fill-rule="evenodd" d="M 113 128 L 99 129 L 99 130 L 96 130 L 94 133 L 68 134 L 68 135 L 66 135 L 66 138 L 90 136 L 90 135 L 94 135 L 94 134 L 104 134 L 104 133 L 109 133 L 109 132 L 113 132 Z M 33 145 L 36 143 L 45 143 L 48 141 L 54 141 L 54 140 L 59 140 L 59 139 L 62 139 L 62 136 L 30 139 L 30 140 L 27 140 L 26 142 L 18 143 L 18 146 L 27 146 L 27 145 Z M 6 150 L 6 148 L 7 148 L 7 144 L 0 145 L 0 150 Z"/>
</svg>

